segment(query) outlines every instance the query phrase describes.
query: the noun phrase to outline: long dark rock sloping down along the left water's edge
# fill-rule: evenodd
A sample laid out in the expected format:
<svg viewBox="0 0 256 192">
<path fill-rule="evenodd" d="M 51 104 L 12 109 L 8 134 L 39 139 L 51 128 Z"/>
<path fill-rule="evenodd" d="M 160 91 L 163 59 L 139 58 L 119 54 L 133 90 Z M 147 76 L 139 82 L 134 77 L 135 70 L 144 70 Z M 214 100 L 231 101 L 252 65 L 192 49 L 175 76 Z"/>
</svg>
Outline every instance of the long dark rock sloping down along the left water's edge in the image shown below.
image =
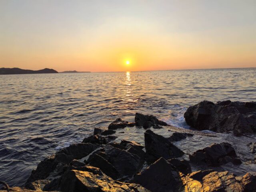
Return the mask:
<svg viewBox="0 0 256 192">
<path fill-rule="evenodd" d="M 72 144 L 69 147 L 59 150 L 55 155 L 42 160 L 38 164 L 36 170 L 32 170 L 30 177 L 26 181 L 25 187 L 33 189 L 34 184 L 32 184 L 32 182 L 46 179 L 51 172 L 54 172 L 59 164 L 69 164 L 73 159 L 83 158 L 98 147 L 98 144 L 81 143 Z"/>
</svg>

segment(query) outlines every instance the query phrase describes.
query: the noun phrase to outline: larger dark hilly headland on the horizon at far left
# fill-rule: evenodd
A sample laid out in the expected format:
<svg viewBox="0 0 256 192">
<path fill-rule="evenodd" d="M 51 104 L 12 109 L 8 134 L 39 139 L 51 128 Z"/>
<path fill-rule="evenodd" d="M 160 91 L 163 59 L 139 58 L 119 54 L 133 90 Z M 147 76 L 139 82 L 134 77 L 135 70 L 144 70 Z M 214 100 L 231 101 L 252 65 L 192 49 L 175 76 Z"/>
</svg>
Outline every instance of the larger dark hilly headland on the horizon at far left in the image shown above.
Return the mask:
<svg viewBox="0 0 256 192">
<path fill-rule="evenodd" d="M 38 73 L 58 73 L 54 69 L 41 69 L 41 70 L 27 70 L 20 68 L 0 68 L 0 75 L 10 75 L 10 74 L 38 74 Z"/>
</svg>

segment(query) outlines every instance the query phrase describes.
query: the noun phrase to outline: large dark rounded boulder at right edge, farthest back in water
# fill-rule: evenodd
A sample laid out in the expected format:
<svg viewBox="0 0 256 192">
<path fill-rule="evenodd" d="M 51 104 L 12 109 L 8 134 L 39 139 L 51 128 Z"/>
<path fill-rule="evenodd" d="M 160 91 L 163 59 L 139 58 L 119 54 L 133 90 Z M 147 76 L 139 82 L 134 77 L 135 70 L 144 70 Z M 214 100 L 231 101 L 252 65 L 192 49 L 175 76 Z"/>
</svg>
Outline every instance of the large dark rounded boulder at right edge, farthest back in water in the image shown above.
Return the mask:
<svg viewBox="0 0 256 192">
<path fill-rule="evenodd" d="M 202 101 L 190 106 L 184 113 L 186 123 L 198 130 L 215 132 L 233 131 L 234 134 L 256 132 L 256 102 L 231 102 L 214 104 Z"/>
</svg>

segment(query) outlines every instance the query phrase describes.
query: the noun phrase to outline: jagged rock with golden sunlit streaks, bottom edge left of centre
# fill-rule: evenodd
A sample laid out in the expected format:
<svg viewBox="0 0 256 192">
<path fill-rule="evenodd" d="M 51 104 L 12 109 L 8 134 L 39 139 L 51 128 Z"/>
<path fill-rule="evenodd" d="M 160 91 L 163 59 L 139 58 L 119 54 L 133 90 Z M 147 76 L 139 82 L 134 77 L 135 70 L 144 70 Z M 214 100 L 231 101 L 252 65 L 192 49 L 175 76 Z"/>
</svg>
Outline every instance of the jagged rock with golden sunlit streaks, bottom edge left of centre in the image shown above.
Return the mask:
<svg viewBox="0 0 256 192">
<path fill-rule="evenodd" d="M 62 192 L 149 192 L 138 184 L 123 183 L 106 176 L 94 167 L 87 171 L 67 170 L 60 179 L 58 188 Z"/>
</svg>

